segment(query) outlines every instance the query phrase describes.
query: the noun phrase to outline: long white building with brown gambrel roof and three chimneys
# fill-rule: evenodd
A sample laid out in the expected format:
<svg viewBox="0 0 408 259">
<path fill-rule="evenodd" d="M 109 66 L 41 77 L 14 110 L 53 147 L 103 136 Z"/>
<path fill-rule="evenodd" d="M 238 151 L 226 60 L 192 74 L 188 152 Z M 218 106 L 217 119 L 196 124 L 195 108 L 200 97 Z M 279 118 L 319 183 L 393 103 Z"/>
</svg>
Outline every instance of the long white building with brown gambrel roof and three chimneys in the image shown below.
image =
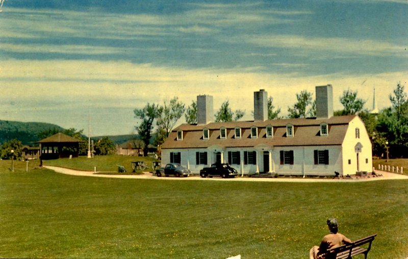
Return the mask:
<svg viewBox="0 0 408 259">
<path fill-rule="evenodd" d="M 333 116 L 333 87 L 316 87 L 316 118 L 267 120 L 267 92 L 254 92 L 254 121 L 212 122 L 213 98 L 197 96 L 197 124 L 176 127 L 162 164 L 192 172 L 216 162 L 241 174 L 340 175 L 372 171 L 371 142 L 357 115 Z"/>
</svg>

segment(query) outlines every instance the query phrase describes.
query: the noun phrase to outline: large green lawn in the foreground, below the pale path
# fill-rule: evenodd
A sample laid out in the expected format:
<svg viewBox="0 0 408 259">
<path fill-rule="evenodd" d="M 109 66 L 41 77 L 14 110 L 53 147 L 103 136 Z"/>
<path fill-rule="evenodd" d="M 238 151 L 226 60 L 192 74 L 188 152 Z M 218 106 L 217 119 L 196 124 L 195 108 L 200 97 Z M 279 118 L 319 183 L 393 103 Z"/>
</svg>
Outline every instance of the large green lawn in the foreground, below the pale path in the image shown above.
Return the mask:
<svg viewBox="0 0 408 259">
<path fill-rule="evenodd" d="M 407 180 L 113 179 L 10 165 L 0 161 L 0 257 L 308 258 L 328 217 L 352 240 L 377 233 L 370 258 L 408 256 Z"/>
</svg>

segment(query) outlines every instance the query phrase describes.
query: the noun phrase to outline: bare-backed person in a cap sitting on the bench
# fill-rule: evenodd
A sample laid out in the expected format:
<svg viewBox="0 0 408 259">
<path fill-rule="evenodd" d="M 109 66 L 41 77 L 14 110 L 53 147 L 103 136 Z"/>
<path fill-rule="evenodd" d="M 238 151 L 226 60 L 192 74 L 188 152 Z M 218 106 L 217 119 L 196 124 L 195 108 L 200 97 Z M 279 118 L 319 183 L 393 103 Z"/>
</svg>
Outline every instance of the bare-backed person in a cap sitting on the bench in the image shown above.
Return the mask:
<svg viewBox="0 0 408 259">
<path fill-rule="evenodd" d="M 337 219 L 328 219 L 327 226 L 330 234 L 324 236 L 319 246 L 314 246 L 310 249 L 310 259 L 325 259 L 324 253 L 330 248 L 339 247 L 342 244 L 351 244 L 351 240 L 338 232 Z"/>
</svg>

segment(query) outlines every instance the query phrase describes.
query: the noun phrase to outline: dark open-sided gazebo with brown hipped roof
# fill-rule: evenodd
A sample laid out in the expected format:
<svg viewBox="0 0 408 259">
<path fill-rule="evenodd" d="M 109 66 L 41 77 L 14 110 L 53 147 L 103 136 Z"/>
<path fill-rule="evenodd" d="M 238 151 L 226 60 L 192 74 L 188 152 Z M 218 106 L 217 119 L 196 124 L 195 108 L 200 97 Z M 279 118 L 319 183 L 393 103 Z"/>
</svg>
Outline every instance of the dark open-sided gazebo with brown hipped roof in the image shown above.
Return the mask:
<svg viewBox="0 0 408 259">
<path fill-rule="evenodd" d="M 40 144 L 40 159 L 49 160 L 68 158 L 70 156 L 77 158 L 80 142 L 82 141 L 62 133 L 57 133 L 36 143 Z"/>
</svg>

